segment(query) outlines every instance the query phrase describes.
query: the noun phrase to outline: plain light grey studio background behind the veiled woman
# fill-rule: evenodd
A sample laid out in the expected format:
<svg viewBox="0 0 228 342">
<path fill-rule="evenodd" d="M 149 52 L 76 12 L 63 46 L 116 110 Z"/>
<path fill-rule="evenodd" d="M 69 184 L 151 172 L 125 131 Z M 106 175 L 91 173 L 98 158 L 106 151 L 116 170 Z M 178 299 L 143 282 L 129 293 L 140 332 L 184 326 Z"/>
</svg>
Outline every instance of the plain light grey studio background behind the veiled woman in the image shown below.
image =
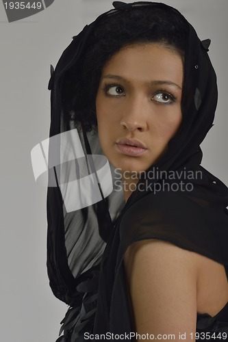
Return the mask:
<svg viewBox="0 0 228 342">
<path fill-rule="evenodd" d="M 130 2 L 130 1 L 126 1 Z M 228 184 L 228 1 L 169 0 L 212 39 L 218 76 L 215 125 L 203 142 L 203 166 Z M 46 189 L 36 185 L 30 151 L 49 133 L 49 65 L 111 0 L 55 0 L 46 10 L 8 23 L 0 3 L 1 289 L 0 339 L 54 342 L 66 304 L 55 299 L 46 272 Z"/>
</svg>

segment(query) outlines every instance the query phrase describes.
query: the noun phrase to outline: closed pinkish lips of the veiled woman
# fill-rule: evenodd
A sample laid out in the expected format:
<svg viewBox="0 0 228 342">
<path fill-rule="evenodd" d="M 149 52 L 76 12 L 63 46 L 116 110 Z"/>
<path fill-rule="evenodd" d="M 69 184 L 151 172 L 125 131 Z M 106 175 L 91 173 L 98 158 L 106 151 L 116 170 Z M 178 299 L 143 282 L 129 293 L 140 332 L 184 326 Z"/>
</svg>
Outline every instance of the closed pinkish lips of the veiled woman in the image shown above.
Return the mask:
<svg viewBox="0 0 228 342">
<path fill-rule="evenodd" d="M 147 151 L 146 146 L 138 140 L 120 139 L 116 142 L 117 149 L 124 155 L 138 156 Z"/>
</svg>

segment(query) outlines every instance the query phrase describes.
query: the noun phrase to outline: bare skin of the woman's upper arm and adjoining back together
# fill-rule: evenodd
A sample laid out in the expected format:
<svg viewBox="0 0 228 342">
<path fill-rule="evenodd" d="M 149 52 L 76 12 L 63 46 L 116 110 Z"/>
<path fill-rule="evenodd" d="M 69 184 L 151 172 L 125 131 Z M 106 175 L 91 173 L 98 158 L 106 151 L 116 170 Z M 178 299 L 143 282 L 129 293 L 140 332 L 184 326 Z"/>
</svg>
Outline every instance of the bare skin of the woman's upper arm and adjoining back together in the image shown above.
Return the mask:
<svg viewBox="0 0 228 342">
<path fill-rule="evenodd" d="M 129 246 L 124 265 L 138 334 L 173 334 L 183 341 L 181 332 L 192 342 L 197 313 L 214 317 L 227 304 L 225 269 L 203 255 L 150 239 Z"/>
</svg>

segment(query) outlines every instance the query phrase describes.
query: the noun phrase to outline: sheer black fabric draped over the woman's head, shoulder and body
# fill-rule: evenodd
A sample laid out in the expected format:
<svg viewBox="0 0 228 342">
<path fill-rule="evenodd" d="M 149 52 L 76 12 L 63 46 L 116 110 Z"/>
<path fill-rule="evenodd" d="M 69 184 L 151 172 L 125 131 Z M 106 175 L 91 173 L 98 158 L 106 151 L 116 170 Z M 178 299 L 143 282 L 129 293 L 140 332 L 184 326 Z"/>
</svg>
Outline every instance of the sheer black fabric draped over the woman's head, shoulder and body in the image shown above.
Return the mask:
<svg viewBox="0 0 228 342">
<path fill-rule="evenodd" d="M 188 21 L 162 3 L 115 1 L 114 6 L 74 37 L 49 81 L 47 269 L 54 295 L 69 305 L 58 342 L 84 341 L 84 332 L 134 331 L 123 255 L 136 241 L 170 241 L 225 265 L 228 275 L 227 187 L 200 166 L 199 146 L 212 127 L 217 103 L 216 75 L 207 53 L 210 40 L 201 42 Z M 88 37 L 103 18 L 148 6 L 174 11 L 188 29 L 183 122 L 125 204 L 97 130 L 85 132 L 74 113 L 69 117 L 64 112 L 63 80 L 83 58 Z M 197 331 L 227 332 L 227 327 L 227 306 L 216 317 L 197 316 Z"/>
</svg>

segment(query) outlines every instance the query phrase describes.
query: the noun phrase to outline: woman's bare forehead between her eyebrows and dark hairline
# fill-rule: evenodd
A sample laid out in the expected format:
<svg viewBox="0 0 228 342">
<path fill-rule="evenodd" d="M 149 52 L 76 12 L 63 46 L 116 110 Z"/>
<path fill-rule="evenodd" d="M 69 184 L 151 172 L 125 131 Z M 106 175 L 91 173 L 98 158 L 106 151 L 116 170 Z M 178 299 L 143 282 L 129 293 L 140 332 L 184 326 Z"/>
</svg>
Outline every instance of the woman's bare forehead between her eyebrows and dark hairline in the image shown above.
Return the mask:
<svg viewBox="0 0 228 342">
<path fill-rule="evenodd" d="M 137 44 L 115 53 L 103 68 L 102 76 L 119 75 L 127 80 L 169 80 L 181 85 L 181 55 L 162 44 Z"/>
</svg>

